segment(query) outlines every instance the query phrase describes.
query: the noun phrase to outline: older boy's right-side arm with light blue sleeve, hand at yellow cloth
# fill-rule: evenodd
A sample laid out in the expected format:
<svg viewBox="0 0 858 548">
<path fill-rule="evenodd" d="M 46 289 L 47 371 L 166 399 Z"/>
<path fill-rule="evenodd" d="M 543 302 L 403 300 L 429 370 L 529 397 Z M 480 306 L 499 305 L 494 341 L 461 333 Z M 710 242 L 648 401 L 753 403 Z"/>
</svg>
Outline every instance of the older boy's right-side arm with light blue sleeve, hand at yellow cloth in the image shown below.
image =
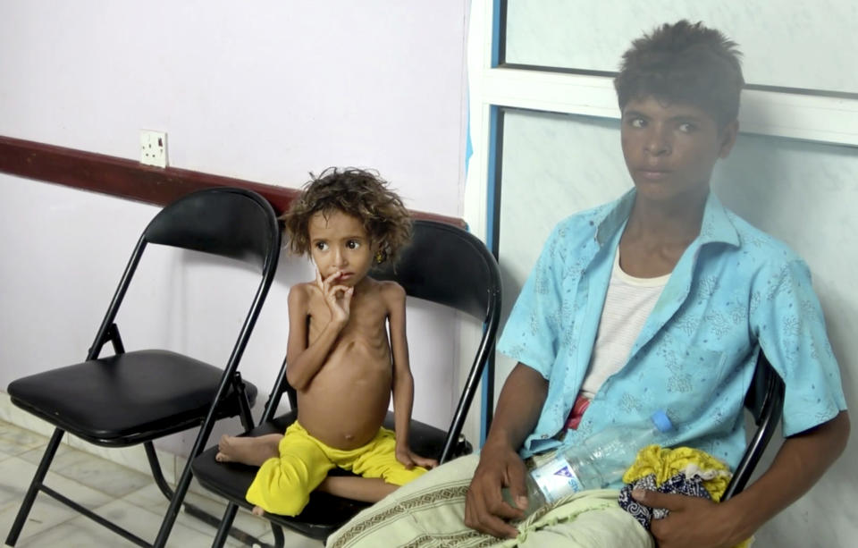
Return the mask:
<svg viewBox="0 0 858 548">
<path fill-rule="evenodd" d="M 766 356 L 783 369 L 778 370 L 778 375 L 785 381 L 791 379 L 787 382 L 786 401 L 812 402 L 822 397 L 826 403 L 804 409 L 805 417 L 824 412 L 827 403 L 840 407 L 845 402 L 840 401 L 842 396 L 837 397 L 837 363 L 833 358 L 824 363 L 821 358 L 811 361 L 812 349 L 829 348 L 829 341 L 819 300 L 812 290 L 810 270 L 803 261 L 790 259 L 786 264 L 768 264 L 761 273 L 760 281 L 765 285 L 761 284 L 756 291 L 769 297 L 753 308 L 750 324 Z M 801 313 L 790 316 L 791 310 Z M 787 318 L 797 324 L 787 328 Z M 796 338 L 794 333 L 800 336 Z M 796 348 L 792 356 L 788 355 L 787 349 Z M 808 356 L 807 361 L 801 358 L 804 355 Z M 794 411 L 790 421 L 789 410 L 787 407 L 784 411 L 784 423 L 795 425 L 798 413 Z M 798 430 L 793 428 L 790 432 Z M 828 422 L 804 428 L 785 440 L 770 468 L 753 485 L 723 504 L 712 504 L 710 508 L 677 495 L 664 498 L 646 493 L 647 506 L 671 510 L 668 518 L 652 524 L 652 533 L 660 540 L 660 546 L 669 548 L 687 542 L 694 542 L 695 548 L 732 545 L 730 541 L 736 544 L 806 493 L 844 450 L 849 417 L 843 411 Z"/>
</svg>

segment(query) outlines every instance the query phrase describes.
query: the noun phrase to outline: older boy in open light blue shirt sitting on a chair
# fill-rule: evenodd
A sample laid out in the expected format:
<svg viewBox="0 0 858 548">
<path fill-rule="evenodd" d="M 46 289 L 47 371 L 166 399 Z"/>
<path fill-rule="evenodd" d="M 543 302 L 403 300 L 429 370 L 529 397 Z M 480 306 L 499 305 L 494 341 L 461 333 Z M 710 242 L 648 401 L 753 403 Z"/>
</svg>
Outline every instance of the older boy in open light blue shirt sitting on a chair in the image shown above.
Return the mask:
<svg viewBox="0 0 858 548">
<path fill-rule="evenodd" d="M 498 343 L 518 363 L 482 452 L 364 510 L 328 546 L 724 548 L 837 459 L 849 418 L 807 266 L 710 192 L 712 168 L 738 131 L 737 55 L 719 31 L 688 21 L 635 40 L 615 80 L 635 188 L 568 217 L 545 244 Z M 621 484 L 517 521 L 527 506 L 523 458 L 610 428 L 644 427 L 657 409 L 677 426 L 665 444 L 735 468 L 759 351 L 786 384 L 787 440 L 743 493 L 716 504 L 635 492 L 638 502 L 669 510 L 650 531 L 619 508 Z M 639 449 L 627 448 L 629 464 Z"/>
</svg>

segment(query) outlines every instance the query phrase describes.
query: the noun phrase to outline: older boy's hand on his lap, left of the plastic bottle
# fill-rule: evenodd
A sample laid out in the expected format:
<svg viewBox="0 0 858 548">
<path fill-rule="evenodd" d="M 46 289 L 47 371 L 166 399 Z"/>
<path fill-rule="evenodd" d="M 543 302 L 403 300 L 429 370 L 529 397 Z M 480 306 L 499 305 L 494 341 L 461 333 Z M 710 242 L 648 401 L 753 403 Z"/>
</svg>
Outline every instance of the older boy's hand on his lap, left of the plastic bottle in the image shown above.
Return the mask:
<svg viewBox="0 0 858 548">
<path fill-rule="evenodd" d="M 471 485 L 467 488 L 465 525 L 499 538 L 515 538 L 518 530 L 509 525 L 508 520 L 520 519 L 525 515 L 526 474 L 525 462 L 516 451 L 509 447 L 490 447 L 486 444 Z M 501 495 L 503 487 L 509 488 L 509 494 L 518 508 L 504 502 Z"/>
</svg>

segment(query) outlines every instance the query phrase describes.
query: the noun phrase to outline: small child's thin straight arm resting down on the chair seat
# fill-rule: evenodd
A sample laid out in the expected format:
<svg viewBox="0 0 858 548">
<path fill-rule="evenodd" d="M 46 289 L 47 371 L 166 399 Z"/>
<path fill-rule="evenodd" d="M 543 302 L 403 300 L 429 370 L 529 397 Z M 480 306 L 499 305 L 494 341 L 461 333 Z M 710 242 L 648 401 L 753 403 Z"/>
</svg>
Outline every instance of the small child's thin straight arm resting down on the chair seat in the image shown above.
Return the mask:
<svg viewBox="0 0 858 548">
<path fill-rule="evenodd" d="M 434 459 L 425 459 L 408 446 L 411 408 L 414 405 L 414 376 L 408 361 L 408 338 L 405 329 L 405 290 L 399 284 L 385 284 L 383 299 L 387 304 L 393 354 L 393 419 L 396 428 L 396 458 L 407 468 L 415 465 L 432 468 Z"/>
</svg>

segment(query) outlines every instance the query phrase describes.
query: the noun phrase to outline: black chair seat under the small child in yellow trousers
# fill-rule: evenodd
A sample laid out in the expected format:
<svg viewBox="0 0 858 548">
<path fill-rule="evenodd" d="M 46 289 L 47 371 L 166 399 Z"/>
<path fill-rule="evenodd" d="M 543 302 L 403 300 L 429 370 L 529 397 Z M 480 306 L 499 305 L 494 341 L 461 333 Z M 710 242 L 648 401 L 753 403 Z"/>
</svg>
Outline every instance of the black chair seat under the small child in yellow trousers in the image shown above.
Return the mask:
<svg viewBox="0 0 858 548">
<path fill-rule="evenodd" d="M 295 418 L 296 413 L 290 411 L 242 435 L 257 436 L 282 433 L 295 421 Z M 384 426 L 394 428 L 392 413 L 387 414 Z M 441 453 L 446 434 L 434 426 L 412 420 L 409 444 L 411 449 L 418 454 L 434 458 Z M 217 447 L 215 446 L 203 451 L 197 459 L 194 459 L 192 463 L 194 476 L 206 489 L 244 508 L 251 508 L 251 505 L 245 501 L 244 495 L 253 482 L 258 468 L 234 462 L 217 462 L 214 459 L 216 454 Z M 340 468 L 334 468 L 331 475 L 351 476 L 351 473 Z M 290 518 L 266 514 L 265 517 L 282 527 L 297 530 L 302 535 L 324 540 L 333 531 L 345 525 L 357 512 L 368 506 L 369 504 L 366 502 L 357 502 L 328 493 L 314 492 L 310 493 L 310 502 L 307 503 L 299 516 Z"/>
</svg>

